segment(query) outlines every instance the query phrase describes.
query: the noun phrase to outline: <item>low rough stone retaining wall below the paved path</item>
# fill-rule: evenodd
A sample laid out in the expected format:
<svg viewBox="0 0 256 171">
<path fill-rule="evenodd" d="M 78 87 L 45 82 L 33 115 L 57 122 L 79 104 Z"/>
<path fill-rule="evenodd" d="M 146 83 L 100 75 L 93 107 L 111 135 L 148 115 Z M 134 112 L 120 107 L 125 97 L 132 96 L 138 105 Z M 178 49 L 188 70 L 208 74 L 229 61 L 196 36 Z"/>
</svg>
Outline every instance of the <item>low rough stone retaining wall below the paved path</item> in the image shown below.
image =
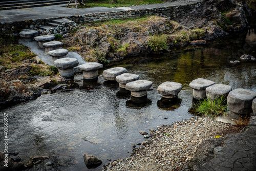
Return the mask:
<svg viewBox="0 0 256 171">
<path fill-rule="evenodd" d="M 186 14 L 197 7 L 199 7 L 201 2 L 187 5 L 178 5 L 178 6 L 167 6 L 167 7 L 158 7 L 151 9 L 138 9 L 138 10 L 127 10 L 127 11 L 118 11 L 118 12 L 102 12 L 102 13 L 90 13 L 83 15 L 74 15 L 66 17 L 55 17 L 55 18 L 46 18 L 46 19 L 29 19 L 22 22 L 1 22 L 0 23 L 0 34 L 8 33 L 8 31 L 13 31 L 18 33 L 24 29 L 36 30 L 36 27 L 39 25 L 45 25 L 47 22 L 50 22 L 51 19 L 59 18 L 68 18 L 73 20 L 77 24 L 95 22 L 106 19 L 118 19 L 118 18 L 132 18 L 132 17 L 141 17 L 146 15 L 157 15 L 162 17 L 168 17 L 174 19 L 180 15 Z"/>
</svg>

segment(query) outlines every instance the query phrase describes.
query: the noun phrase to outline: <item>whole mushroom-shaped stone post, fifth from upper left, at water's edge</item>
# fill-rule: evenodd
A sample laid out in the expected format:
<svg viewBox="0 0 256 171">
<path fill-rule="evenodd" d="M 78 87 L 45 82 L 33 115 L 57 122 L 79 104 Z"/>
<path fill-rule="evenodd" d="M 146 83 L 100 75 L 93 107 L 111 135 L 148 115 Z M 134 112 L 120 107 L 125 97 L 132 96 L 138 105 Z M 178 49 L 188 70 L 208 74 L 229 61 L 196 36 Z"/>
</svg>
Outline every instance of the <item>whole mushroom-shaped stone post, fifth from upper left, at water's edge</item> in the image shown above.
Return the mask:
<svg viewBox="0 0 256 171">
<path fill-rule="evenodd" d="M 75 58 L 61 58 L 54 61 L 54 66 L 58 68 L 62 77 L 69 78 L 74 76 L 74 67 L 78 66 L 78 60 Z"/>
</svg>

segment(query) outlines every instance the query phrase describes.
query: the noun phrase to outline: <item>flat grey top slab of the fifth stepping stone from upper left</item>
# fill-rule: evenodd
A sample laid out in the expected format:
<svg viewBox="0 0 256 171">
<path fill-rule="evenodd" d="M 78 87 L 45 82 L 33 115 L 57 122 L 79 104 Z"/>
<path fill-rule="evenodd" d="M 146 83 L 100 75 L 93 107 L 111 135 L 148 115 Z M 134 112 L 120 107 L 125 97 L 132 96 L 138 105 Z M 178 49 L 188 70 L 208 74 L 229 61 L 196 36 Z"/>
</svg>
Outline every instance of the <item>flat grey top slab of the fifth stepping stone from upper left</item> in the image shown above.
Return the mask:
<svg viewBox="0 0 256 171">
<path fill-rule="evenodd" d="M 66 70 L 68 68 L 74 68 L 78 66 L 78 60 L 74 58 L 61 58 L 54 61 L 54 65 L 56 68 L 61 70 Z"/>
</svg>

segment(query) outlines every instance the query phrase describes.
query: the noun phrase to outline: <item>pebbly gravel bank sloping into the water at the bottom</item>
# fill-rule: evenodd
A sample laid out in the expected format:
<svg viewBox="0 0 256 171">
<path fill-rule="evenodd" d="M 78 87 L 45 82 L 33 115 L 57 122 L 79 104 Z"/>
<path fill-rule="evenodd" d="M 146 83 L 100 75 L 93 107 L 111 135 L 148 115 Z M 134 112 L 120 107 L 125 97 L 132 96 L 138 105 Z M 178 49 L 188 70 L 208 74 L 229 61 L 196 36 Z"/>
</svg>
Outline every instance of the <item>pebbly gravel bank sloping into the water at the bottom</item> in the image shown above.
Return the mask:
<svg viewBox="0 0 256 171">
<path fill-rule="evenodd" d="M 208 117 L 162 125 L 151 131 L 151 140 L 144 141 L 131 157 L 109 163 L 104 170 L 182 170 L 193 158 L 202 141 L 229 132 L 239 132 L 230 123 L 218 122 Z"/>
</svg>

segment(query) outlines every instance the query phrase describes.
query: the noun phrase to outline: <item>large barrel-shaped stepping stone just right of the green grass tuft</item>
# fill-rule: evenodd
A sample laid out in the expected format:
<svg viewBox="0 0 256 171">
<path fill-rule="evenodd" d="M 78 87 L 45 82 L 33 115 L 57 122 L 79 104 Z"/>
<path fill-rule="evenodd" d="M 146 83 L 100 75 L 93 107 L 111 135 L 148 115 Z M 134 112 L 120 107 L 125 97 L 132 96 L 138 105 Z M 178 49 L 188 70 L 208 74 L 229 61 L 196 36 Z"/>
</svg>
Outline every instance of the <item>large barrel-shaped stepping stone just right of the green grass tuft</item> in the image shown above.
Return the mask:
<svg viewBox="0 0 256 171">
<path fill-rule="evenodd" d="M 227 96 L 229 111 L 236 114 L 250 114 L 252 112 L 252 100 L 256 97 L 256 92 L 247 89 L 235 89 Z"/>
</svg>

